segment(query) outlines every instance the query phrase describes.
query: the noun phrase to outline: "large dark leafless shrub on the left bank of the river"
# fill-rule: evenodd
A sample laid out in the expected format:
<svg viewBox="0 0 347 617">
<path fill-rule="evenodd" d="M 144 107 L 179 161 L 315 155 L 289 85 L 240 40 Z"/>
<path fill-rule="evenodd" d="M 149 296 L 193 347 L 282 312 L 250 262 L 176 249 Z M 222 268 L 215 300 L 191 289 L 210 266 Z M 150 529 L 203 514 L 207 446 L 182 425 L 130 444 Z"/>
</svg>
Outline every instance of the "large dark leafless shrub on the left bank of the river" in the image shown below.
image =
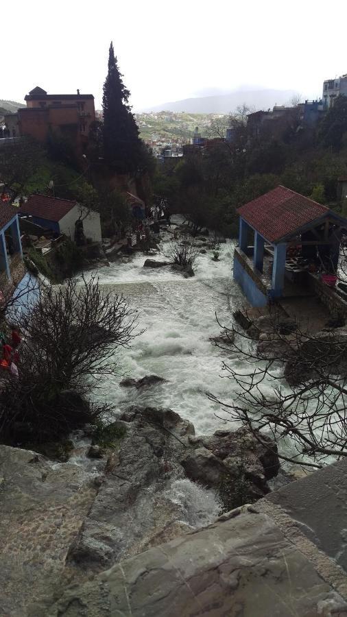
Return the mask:
<svg viewBox="0 0 347 617">
<path fill-rule="evenodd" d="M 29 311 L 16 314 L 25 334 L 19 378 L 3 371 L 0 434 L 6 441 L 67 435 L 104 413 L 89 396 L 101 378 L 115 374 L 115 351 L 136 336 L 136 313 L 122 295 L 93 277 L 78 285 L 39 285 Z"/>
</svg>

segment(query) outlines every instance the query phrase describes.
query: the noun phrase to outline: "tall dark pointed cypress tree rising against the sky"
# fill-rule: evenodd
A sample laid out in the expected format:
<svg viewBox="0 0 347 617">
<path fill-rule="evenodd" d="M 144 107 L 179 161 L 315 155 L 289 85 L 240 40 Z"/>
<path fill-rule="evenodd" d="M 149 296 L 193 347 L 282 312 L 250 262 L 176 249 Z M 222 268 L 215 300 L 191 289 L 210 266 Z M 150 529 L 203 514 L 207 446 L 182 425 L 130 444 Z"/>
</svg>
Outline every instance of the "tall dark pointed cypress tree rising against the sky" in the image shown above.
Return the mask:
<svg viewBox="0 0 347 617">
<path fill-rule="evenodd" d="M 141 160 L 141 139 L 129 105 L 130 92 L 119 73 L 111 42 L 104 83 L 104 159 L 121 173 L 134 172 Z"/>
</svg>

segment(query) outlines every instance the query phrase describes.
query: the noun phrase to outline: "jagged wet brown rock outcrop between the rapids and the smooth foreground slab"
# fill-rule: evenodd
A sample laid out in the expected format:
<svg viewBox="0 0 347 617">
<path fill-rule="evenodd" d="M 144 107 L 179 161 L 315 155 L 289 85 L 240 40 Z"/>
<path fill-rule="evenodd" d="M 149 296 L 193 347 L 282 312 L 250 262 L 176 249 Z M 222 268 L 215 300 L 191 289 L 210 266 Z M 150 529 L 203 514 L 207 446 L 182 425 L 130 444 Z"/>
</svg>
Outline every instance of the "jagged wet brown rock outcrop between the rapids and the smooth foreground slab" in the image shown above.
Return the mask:
<svg viewBox="0 0 347 617">
<path fill-rule="evenodd" d="M 173 534 L 180 505 L 167 496 L 176 481 L 189 478 L 217 489 L 223 479 L 232 491 L 239 479 L 240 448 L 254 500 L 269 492 L 266 478 L 278 471 L 276 446 L 271 442 L 274 453 L 267 458 L 267 450 L 246 431 L 195 437 L 191 422 L 171 409 L 152 407 L 129 407 L 120 420 L 126 433 L 115 467 L 70 553 L 77 567 L 107 568 Z"/>
</svg>

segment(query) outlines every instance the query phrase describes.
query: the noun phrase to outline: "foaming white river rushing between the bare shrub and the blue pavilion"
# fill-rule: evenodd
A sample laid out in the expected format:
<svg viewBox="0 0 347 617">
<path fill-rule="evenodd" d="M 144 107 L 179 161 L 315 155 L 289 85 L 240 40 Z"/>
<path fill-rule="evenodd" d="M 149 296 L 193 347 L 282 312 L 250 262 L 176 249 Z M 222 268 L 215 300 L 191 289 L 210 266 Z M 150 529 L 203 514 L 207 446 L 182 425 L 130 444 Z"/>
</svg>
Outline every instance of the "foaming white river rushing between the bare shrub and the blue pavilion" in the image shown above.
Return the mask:
<svg viewBox="0 0 347 617">
<path fill-rule="evenodd" d="M 162 232 L 161 237 L 154 259 L 165 261 L 172 234 Z M 243 302 L 232 280 L 232 253 L 232 241 L 227 241 L 221 245 L 219 261 L 213 261 L 211 250 L 200 254 L 195 276 L 188 279 L 169 267 L 143 268 L 142 253 L 98 270 L 99 283 L 123 293 L 138 311 L 139 329 L 145 330 L 120 358 L 117 352 L 123 375 L 108 376 L 105 383 L 107 400 L 115 409 L 130 404 L 169 407 L 191 420 L 197 433 L 232 428 L 216 417 L 221 408 L 206 396 L 208 391 L 226 401 L 232 396 L 232 382 L 221 377 L 222 361 L 236 360 L 209 340 L 221 330 L 216 313 L 222 324 L 230 326 L 232 311 Z M 167 381 L 143 390 L 119 387 L 124 375 L 139 379 L 148 374 Z"/>
</svg>

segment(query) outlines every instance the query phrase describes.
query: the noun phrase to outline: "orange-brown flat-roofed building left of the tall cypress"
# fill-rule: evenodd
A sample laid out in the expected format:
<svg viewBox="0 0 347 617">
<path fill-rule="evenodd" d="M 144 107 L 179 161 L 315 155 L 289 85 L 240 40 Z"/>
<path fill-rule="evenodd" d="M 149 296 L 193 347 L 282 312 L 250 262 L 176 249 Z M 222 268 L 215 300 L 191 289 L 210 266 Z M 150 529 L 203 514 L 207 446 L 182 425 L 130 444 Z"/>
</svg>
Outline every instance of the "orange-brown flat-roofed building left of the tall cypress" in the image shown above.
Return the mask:
<svg viewBox="0 0 347 617">
<path fill-rule="evenodd" d="M 36 86 L 25 97 L 27 106 L 6 117 L 12 135 L 30 135 L 45 142 L 50 132 L 69 138 L 77 154 L 86 152 L 91 123 L 95 121 L 93 95 L 49 95 Z M 16 125 L 16 128 L 15 128 Z"/>
</svg>

